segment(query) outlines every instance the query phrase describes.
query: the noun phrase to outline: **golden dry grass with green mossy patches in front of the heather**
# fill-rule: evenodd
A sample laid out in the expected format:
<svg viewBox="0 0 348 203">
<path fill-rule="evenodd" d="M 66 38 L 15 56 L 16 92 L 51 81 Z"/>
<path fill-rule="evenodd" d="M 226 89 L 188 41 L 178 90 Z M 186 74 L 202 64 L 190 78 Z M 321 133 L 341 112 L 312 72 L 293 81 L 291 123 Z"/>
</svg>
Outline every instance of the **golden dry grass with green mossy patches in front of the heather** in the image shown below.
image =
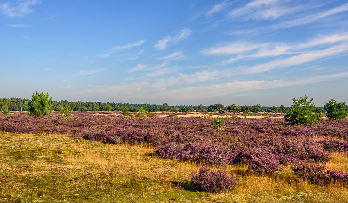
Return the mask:
<svg viewBox="0 0 348 203">
<path fill-rule="evenodd" d="M 200 164 L 159 159 L 148 144 L 104 144 L 62 135 L 0 133 L 0 202 L 348 202 L 347 186 L 322 187 L 298 180 L 286 167 L 261 176 L 244 165 L 228 193 L 193 190 Z M 348 170 L 346 154 L 333 153 L 329 168 Z"/>
</svg>

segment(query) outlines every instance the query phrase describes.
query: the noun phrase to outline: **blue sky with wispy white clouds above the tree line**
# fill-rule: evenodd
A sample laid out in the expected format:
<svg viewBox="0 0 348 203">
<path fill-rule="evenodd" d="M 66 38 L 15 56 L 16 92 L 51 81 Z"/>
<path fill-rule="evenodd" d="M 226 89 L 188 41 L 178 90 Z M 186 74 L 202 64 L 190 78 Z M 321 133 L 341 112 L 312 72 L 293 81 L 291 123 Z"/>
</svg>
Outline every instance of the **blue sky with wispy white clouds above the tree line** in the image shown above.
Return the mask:
<svg viewBox="0 0 348 203">
<path fill-rule="evenodd" d="M 348 102 L 348 2 L 0 0 L 0 97 Z"/>
</svg>

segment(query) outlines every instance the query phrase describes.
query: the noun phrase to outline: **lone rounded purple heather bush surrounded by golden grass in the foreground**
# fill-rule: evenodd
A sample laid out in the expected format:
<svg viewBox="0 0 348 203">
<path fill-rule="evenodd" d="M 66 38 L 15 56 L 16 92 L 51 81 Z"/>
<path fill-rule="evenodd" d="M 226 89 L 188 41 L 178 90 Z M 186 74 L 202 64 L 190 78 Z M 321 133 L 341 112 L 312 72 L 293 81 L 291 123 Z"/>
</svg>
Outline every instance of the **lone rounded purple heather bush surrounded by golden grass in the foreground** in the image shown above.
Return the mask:
<svg viewBox="0 0 348 203">
<path fill-rule="evenodd" d="M 211 171 L 208 167 L 200 167 L 198 174 L 191 174 L 191 183 L 195 189 L 206 192 L 223 192 L 236 187 L 234 174 L 224 171 Z"/>
</svg>

